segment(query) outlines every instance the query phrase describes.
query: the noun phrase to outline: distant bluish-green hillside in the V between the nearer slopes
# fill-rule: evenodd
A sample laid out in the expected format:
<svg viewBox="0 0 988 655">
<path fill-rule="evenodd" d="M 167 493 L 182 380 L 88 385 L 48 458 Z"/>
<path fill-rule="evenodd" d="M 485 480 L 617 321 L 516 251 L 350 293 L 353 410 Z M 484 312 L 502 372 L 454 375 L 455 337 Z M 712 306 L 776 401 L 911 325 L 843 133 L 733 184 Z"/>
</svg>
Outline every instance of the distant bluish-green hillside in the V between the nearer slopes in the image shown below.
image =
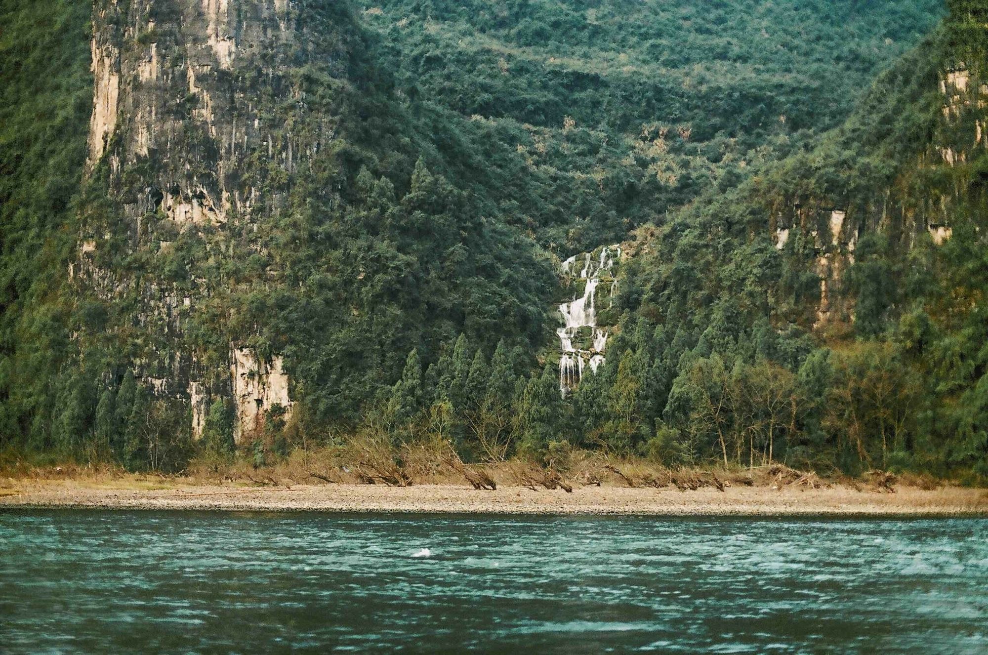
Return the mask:
<svg viewBox="0 0 988 655">
<path fill-rule="evenodd" d="M 451 165 L 475 173 L 463 183 L 485 211 L 567 255 L 840 123 L 943 11 L 941 0 L 360 5 L 377 60 Z"/>
</svg>

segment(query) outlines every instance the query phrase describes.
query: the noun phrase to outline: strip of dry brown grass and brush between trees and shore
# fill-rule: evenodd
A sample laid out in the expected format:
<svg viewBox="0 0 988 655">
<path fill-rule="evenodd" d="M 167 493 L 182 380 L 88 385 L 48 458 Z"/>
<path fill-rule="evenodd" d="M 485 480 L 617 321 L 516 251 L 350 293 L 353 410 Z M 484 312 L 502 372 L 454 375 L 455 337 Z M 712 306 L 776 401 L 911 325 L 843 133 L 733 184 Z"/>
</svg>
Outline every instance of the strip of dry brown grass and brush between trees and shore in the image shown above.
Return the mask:
<svg viewBox="0 0 988 655">
<path fill-rule="evenodd" d="M 0 489 L 21 489 L 34 483 L 65 487 L 152 490 L 184 486 L 228 485 L 280 487 L 319 484 L 469 485 L 496 489 L 498 485 L 538 489 L 585 486 L 677 488 L 682 491 L 729 487 L 813 490 L 845 487 L 859 492 L 894 493 L 898 487 L 936 491 L 949 486 L 929 474 L 894 476 L 869 471 L 862 477 L 820 476 L 781 463 L 747 467 L 663 466 L 641 457 L 617 457 L 597 450 L 559 445 L 544 464 L 513 459 L 478 464 L 463 462 L 448 441 L 427 439 L 392 445 L 372 434 L 348 440 L 345 446 L 293 450 L 270 466 L 255 467 L 247 456 L 194 460 L 177 475 L 128 473 L 111 465 L 32 466 L 24 462 L 0 469 Z"/>
</svg>

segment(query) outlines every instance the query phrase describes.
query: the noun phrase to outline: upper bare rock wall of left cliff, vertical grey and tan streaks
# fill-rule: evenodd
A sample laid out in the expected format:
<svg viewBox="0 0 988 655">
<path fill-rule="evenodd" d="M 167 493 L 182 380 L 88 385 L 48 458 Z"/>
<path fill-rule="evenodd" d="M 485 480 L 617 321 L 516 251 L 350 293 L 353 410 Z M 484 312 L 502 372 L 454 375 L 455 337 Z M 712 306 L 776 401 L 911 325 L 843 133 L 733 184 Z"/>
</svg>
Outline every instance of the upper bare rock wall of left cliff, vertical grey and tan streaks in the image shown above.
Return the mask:
<svg viewBox="0 0 988 655">
<path fill-rule="evenodd" d="M 267 152 L 290 172 L 333 130 L 316 125 L 302 143 L 271 115 L 279 102 L 304 102 L 279 61 L 304 38 L 295 20 L 276 0 L 97 3 L 91 157 L 109 157 L 130 217 L 160 210 L 178 224 L 221 224 L 277 205 L 258 204 L 246 157 Z M 124 175 L 136 165 L 149 170 Z"/>
</svg>

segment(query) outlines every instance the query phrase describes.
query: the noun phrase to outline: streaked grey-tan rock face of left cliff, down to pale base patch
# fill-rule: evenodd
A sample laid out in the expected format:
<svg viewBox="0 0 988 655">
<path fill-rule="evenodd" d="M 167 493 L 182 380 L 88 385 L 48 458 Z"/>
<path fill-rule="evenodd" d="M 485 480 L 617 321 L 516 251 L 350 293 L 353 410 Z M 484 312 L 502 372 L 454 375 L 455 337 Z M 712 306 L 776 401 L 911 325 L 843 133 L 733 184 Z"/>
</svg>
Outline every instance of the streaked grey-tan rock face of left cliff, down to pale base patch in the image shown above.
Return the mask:
<svg viewBox="0 0 988 655">
<path fill-rule="evenodd" d="M 237 282 L 217 275 L 176 283 L 156 267 L 163 258 L 181 262 L 182 243 L 213 259 L 235 250 L 263 255 L 252 235 L 285 210 L 296 172 L 334 139 L 336 124 L 308 109 L 297 71 L 312 60 L 321 72 L 346 71 L 348 47 L 340 37 L 327 49 L 323 33 L 333 26 L 306 21 L 307 10 L 289 0 L 94 5 L 89 170 L 106 185 L 115 215 L 83 212 L 72 274 L 108 303 L 126 297 L 136 306 L 126 328 L 143 335 L 131 342 L 139 344 L 133 366 L 146 383 L 155 380 L 157 393 L 191 403 L 197 436 L 217 394 L 236 401 L 237 438 L 272 406 L 290 407 L 280 357 L 263 363 L 244 348 L 219 354 L 202 334 L 189 334 L 203 303 L 236 292 Z M 143 268 L 122 272 L 100 259 L 119 254 L 122 239 Z M 278 284 L 277 270 L 267 277 Z M 213 343 L 253 336 L 217 319 Z"/>
</svg>

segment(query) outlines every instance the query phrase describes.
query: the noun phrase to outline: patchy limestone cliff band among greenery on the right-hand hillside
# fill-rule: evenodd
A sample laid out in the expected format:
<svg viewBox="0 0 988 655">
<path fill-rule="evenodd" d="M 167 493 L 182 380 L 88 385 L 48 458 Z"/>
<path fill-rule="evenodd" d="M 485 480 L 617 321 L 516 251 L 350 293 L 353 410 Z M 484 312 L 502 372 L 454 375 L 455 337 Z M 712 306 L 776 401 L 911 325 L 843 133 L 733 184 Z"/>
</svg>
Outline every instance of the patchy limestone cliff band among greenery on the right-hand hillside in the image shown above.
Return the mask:
<svg viewBox="0 0 988 655">
<path fill-rule="evenodd" d="M 883 184 L 865 181 L 864 176 L 856 179 L 856 167 L 871 173 L 873 164 L 850 161 L 843 164 L 852 172 L 846 175 L 844 187 L 776 197 L 770 218 L 776 248 L 801 249 L 811 257 L 809 267 L 819 279 L 815 328 L 854 320 L 854 297 L 844 283 L 865 234 L 883 235 L 899 253 L 911 250 L 921 239 L 940 246 L 951 237 L 953 223 L 963 213 L 959 205 L 969 199 L 971 180 L 977 178 L 971 171 L 957 169 L 988 148 L 985 79 L 976 62 L 941 62 L 936 80 L 941 107 L 925 125 L 926 140 L 917 142 L 917 153 Z M 935 90 L 931 84 L 928 87 L 932 97 Z M 799 243 L 791 243 L 793 235 L 799 235 Z"/>
</svg>

